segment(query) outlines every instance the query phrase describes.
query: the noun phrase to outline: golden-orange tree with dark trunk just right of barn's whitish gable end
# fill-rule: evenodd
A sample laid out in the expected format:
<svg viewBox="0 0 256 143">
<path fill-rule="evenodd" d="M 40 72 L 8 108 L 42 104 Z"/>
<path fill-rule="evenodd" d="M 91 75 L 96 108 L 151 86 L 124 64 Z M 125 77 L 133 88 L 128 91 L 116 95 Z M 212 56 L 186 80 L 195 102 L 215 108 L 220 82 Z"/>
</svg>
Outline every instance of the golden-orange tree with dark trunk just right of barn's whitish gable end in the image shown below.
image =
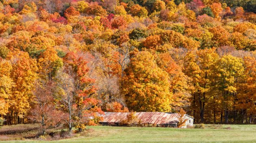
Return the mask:
<svg viewBox="0 0 256 143">
<path fill-rule="evenodd" d="M 215 48 L 198 50 L 189 53 L 185 58 L 185 73 L 191 78 L 193 102 L 197 102 L 200 108 L 201 122 L 204 122 L 204 110 L 207 100 L 211 94 L 209 75 L 213 74 L 212 66 L 217 61 L 218 55 Z"/>
</svg>

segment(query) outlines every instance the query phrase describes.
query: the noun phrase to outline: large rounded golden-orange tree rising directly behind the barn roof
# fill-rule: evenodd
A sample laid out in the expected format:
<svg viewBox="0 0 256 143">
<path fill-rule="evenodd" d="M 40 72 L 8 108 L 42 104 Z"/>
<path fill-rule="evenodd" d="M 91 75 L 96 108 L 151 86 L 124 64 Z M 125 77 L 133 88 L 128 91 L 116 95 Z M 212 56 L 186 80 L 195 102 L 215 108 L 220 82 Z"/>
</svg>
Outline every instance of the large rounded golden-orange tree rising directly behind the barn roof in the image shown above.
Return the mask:
<svg viewBox="0 0 256 143">
<path fill-rule="evenodd" d="M 129 109 L 170 111 L 169 76 L 159 68 L 148 51 L 135 50 L 122 78 L 121 91 Z"/>
</svg>

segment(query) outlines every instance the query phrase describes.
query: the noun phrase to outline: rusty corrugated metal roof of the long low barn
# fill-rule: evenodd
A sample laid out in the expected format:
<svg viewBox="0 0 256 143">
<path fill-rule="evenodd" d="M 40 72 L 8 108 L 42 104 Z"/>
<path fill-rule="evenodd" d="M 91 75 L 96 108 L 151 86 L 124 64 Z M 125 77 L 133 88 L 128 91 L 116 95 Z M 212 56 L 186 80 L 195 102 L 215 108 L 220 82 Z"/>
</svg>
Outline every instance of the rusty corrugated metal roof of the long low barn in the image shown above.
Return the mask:
<svg viewBox="0 0 256 143">
<path fill-rule="evenodd" d="M 102 122 L 119 123 L 121 120 L 125 120 L 127 112 L 105 112 Z M 164 113 L 164 112 L 137 112 L 136 116 L 141 120 L 141 123 L 150 124 L 177 124 L 179 114 Z"/>
</svg>

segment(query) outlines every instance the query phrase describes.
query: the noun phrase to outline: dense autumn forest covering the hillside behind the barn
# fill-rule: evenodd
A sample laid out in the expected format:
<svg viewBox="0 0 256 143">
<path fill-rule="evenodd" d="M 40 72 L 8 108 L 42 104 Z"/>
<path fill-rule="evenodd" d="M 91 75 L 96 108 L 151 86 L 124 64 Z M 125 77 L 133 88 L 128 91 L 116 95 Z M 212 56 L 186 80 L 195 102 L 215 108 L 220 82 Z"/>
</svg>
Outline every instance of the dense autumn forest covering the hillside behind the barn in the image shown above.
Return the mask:
<svg viewBox="0 0 256 143">
<path fill-rule="evenodd" d="M 256 123 L 255 13 L 255 0 L 0 0 L 0 124 Z"/>
</svg>

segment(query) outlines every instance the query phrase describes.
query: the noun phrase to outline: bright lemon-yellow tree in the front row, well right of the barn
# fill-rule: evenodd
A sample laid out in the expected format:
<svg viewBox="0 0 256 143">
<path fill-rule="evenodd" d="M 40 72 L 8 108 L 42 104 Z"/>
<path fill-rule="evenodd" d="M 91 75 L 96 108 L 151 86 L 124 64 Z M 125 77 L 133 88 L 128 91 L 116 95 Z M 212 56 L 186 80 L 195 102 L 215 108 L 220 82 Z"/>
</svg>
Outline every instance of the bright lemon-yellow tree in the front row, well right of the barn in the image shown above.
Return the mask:
<svg viewBox="0 0 256 143">
<path fill-rule="evenodd" d="M 219 93 L 224 110 L 225 123 L 228 123 L 228 114 L 231 107 L 234 107 L 236 98 L 236 84 L 243 76 L 243 59 L 225 55 L 214 65 L 215 73 L 212 78 L 215 83 L 215 90 Z"/>
</svg>

